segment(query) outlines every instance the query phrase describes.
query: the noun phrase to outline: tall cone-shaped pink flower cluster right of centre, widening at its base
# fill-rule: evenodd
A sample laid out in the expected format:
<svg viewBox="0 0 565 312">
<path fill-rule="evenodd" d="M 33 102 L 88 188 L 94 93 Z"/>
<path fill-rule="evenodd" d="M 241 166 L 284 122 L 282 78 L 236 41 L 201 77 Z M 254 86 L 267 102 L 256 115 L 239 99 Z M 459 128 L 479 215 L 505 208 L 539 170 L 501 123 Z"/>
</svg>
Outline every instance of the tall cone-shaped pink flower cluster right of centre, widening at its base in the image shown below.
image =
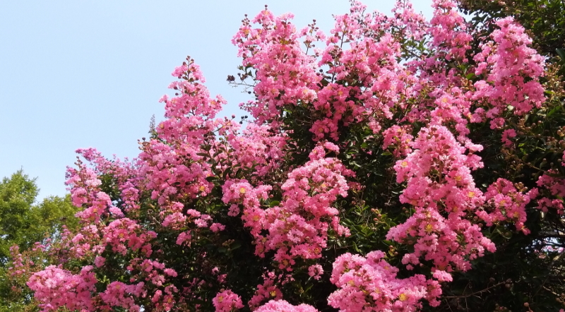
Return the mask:
<svg viewBox="0 0 565 312">
<path fill-rule="evenodd" d="M 408 181 L 400 201 L 414 206 L 415 213 L 391 228 L 386 238 L 414 245 L 414 252 L 403 258 L 408 268 L 424 257 L 438 270 L 469 270 L 469 260 L 482 256 L 485 249 L 495 250 L 467 218 L 484 203 L 470 174 L 482 167 L 480 157 L 465 155 L 466 148 L 444 126 L 422 128 L 411 147 L 413 152 L 398 160 L 394 169 L 399 183 Z M 472 152 L 481 147 L 469 148 Z"/>
</svg>

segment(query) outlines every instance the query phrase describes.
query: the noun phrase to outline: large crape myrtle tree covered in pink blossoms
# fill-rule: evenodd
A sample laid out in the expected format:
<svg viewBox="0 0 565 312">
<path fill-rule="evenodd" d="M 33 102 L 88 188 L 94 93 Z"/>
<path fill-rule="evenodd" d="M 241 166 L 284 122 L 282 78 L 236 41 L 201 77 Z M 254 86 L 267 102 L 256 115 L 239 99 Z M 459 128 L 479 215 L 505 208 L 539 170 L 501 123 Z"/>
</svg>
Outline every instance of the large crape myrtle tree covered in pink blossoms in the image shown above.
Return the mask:
<svg viewBox="0 0 565 312">
<path fill-rule="evenodd" d="M 42 311 L 558 311 L 557 70 L 513 18 L 433 6 L 244 18 L 244 128 L 187 58 L 136 160 L 78 150 Z"/>
</svg>

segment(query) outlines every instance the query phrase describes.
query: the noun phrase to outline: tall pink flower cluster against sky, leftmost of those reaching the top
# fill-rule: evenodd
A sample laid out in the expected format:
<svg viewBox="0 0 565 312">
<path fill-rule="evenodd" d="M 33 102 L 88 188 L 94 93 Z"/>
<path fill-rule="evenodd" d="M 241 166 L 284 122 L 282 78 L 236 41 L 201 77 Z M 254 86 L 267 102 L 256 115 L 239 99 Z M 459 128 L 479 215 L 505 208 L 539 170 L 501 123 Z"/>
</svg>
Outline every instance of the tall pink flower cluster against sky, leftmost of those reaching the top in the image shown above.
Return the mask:
<svg viewBox="0 0 565 312">
<path fill-rule="evenodd" d="M 232 42 L 239 48 L 244 67 L 256 69 L 254 92 L 256 102 L 248 104 L 257 124 L 276 119 L 287 103 L 312 102 L 316 98 L 315 59 L 300 47 L 292 14 L 276 18 L 268 10 L 254 20 L 245 19 Z M 260 28 L 252 28 L 257 23 Z M 321 34 L 320 34 L 321 35 Z"/>
</svg>

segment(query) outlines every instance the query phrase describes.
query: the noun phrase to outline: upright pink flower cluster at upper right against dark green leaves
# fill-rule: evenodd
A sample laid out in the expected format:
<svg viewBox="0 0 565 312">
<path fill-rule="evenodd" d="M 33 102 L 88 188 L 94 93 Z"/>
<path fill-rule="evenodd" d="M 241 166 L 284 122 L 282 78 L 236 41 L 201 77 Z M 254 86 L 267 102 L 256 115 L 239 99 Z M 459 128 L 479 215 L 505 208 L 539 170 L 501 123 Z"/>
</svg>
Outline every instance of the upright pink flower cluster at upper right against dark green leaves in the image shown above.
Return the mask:
<svg viewBox="0 0 565 312">
<path fill-rule="evenodd" d="M 475 114 L 492 119 L 491 128 L 504 126 L 504 112 L 513 107 L 514 114 L 523 115 L 545 101 L 540 77 L 545 59 L 528 47 L 532 40 L 513 18 L 496 21 L 498 30 L 490 35 L 492 41 L 482 44 L 482 52 L 475 55 L 475 74 L 484 80 L 475 83 L 472 100 L 485 104 L 487 111 L 478 108 Z"/>
</svg>

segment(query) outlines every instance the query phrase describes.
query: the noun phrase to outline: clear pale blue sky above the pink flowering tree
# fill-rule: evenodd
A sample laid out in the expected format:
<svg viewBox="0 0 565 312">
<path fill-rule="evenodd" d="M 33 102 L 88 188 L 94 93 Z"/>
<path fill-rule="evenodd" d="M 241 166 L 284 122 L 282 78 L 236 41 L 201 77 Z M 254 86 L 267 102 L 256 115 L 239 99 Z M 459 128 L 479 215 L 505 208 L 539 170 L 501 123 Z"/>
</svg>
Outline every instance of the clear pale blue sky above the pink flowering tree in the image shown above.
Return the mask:
<svg viewBox="0 0 565 312">
<path fill-rule="evenodd" d="M 432 15 L 431 0 L 412 2 Z M 364 3 L 390 13 L 394 0 Z M 294 13 L 297 28 L 316 19 L 326 33 L 332 14 L 349 11 L 346 0 L 0 1 L 0 178 L 23 168 L 40 198 L 64 196 L 77 148 L 136 157 L 186 55 L 211 95 L 229 102 L 225 115 L 239 118 L 237 104 L 249 98 L 226 82 L 239 64 L 231 38 L 265 4 Z"/>
</svg>

